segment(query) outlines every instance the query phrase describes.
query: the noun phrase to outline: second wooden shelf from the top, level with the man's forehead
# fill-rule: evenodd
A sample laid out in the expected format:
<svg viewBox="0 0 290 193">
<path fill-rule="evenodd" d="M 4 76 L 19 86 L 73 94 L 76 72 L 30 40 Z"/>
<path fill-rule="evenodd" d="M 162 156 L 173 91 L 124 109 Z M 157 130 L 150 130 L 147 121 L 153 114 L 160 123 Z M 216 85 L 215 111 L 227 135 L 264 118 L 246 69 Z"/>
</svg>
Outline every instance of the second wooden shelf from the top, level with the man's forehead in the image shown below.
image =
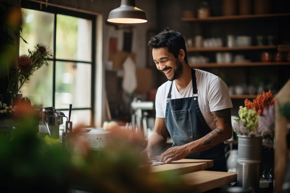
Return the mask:
<svg viewBox="0 0 290 193">
<path fill-rule="evenodd" d="M 257 49 L 277 49 L 276 45 L 268 46 L 241 46 L 241 47 L 189 47 L 187 52 L 215 52 L 215 51 L 233 51 L 233 50 L 257 50 Z"/>
</svg>

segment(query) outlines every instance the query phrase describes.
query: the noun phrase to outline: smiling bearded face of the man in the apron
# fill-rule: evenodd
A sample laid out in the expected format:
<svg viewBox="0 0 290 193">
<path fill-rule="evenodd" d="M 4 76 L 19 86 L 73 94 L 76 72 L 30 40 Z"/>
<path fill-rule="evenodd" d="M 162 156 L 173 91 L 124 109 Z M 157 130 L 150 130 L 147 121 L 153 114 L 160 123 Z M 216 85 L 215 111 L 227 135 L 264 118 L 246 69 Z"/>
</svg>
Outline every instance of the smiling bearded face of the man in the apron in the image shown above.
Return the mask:
<svg viewBox="0 0 290 193">
<path fill-rule="evenodd" d="M 180 78 L 183 71 L 182 63 L 168 52 L 166 47 L 153 48 L 152 56 L 157 69 L 163 72 L 168 80 L 173 81 Z"/>
</svg>

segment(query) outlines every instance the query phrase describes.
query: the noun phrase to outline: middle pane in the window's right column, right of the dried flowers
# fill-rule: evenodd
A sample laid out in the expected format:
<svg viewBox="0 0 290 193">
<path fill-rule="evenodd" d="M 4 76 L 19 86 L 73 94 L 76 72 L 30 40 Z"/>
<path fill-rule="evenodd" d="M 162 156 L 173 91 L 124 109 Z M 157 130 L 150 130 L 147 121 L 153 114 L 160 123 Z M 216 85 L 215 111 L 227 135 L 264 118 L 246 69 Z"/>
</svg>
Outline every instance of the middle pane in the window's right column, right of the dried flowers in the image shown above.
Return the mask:
<svg viewBox="0 0 290 193">
<path fill-rule="evenodd" d="M 56 62 L 56 109 L 91 107 L 91 71 L 91 64 Z"/>
</svg>

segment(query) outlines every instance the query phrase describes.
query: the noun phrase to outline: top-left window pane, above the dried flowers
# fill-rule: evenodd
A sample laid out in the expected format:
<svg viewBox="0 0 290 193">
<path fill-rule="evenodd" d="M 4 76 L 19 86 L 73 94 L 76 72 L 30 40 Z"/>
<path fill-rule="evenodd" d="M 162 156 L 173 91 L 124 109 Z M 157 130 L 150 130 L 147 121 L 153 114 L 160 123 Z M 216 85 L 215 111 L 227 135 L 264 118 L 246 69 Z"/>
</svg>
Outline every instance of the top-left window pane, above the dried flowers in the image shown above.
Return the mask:
<svg viewBox="0 0 290 193">
<path fill-rule="evenodd" d="M 28 54 L 28 48 L 33 50 L 38 43 L 44 43 L 53 49 L 54 14 L 31 9 L 21 10 L 24 14 L 21 36 L 29 44 L 20 38 L 19 55 Z"/>
</svg>

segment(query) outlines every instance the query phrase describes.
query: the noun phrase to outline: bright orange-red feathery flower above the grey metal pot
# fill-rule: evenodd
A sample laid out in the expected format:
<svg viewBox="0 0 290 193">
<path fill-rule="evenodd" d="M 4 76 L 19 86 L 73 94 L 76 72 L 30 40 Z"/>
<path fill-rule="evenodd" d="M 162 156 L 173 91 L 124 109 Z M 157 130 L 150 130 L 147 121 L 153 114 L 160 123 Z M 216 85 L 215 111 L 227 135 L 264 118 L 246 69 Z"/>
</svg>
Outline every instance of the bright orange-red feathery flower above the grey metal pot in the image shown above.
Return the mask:
<svg viewBox="0 0 290 193">
<path fill-rule="evenodd" d="M 275 97 L 269 89 L 269 92 L 263 91 L 262 94 L 258 94 L 257 98 L 254 99 L 253 102 L 246 99 L 245 107 L 247 107 L 247 109 L 254 109 L 258 115 L 262 115 L 264 109 L 268 109 L 271 104 L 274 104 L 274 102 Z"/>
</svg>

